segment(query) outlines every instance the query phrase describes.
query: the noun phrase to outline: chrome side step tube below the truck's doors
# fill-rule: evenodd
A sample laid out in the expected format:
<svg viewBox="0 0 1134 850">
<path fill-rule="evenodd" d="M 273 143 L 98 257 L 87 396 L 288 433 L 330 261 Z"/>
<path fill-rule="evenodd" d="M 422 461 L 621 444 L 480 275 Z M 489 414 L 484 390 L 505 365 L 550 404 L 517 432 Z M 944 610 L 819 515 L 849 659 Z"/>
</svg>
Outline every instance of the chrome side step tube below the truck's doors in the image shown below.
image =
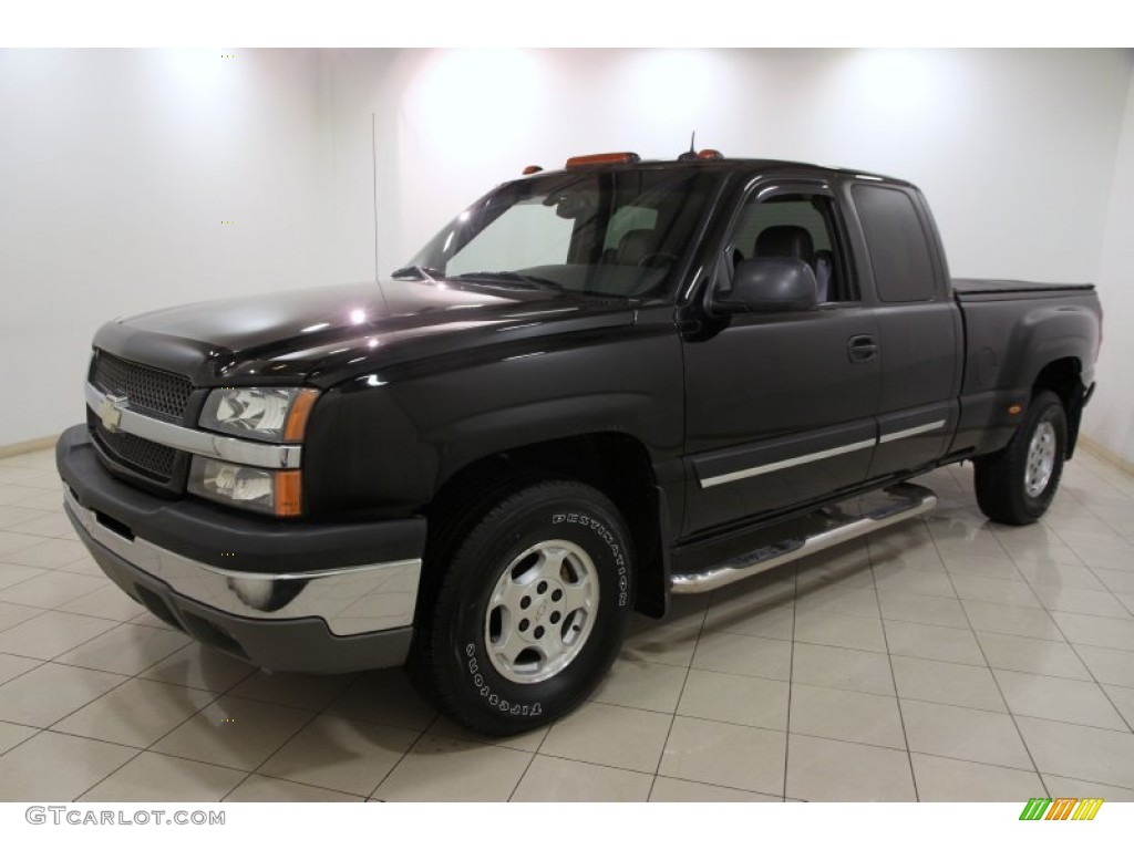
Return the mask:
<svg viewBox="0 0 1134 850">
<path fill-rule="evenodd" d="M 718 587 L 725 587 L 773 567 L 797 561 L 895 522 L 911 519 L 932 510 L 937 504 L 937 494 L 929 487 L 919 484 L 896 484 L 872 495 L 874 498 L 883 496 L 886 501 L 877 507 L 862 505 L 861 512 L 857 513 L 846 513 L 840 510 L 824 511 L 822 512 L 827 513 L 823 518 L 824 527 L 812 534 L 790 537 L 763 546 L 754 552 L 725 561 L 704 572 L 675 575 L 670 578 L 670 593 L 688 594 L 716 590 Z M 858 501 L 865 502 L 866 498 Z"/>
</svg>

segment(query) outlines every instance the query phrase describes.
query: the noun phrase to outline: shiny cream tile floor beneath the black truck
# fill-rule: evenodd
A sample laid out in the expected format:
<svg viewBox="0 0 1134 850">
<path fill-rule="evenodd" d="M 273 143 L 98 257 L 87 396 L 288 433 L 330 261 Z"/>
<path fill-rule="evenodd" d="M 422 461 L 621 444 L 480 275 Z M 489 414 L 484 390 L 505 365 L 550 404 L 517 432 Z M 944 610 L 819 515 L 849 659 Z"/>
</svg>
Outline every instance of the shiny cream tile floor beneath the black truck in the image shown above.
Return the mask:
<svg viewBox="0 0 1134 850">
<path fill-rule="evenodd" d="M 1134 800 L 1134 478 L 1044 521 L 967 467 L 914 520 L 638 620 L 550 729 L 484 741 L 400 671 L 271 674 L 101 575 L 51 452 L 0 460 L 0 800 Z"/>
</svg>

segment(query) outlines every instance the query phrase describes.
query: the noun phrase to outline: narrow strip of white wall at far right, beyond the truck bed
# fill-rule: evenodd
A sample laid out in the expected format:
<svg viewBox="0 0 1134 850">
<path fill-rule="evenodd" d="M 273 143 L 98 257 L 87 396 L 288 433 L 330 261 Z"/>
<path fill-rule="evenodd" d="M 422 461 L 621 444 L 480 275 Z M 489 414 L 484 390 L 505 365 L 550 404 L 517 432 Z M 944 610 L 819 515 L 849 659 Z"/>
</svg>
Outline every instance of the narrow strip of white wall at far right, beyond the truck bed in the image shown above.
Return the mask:
<svg viewBox="0 0 1134 850">
<path fill-rule="evenodd" d="M 1084 433 L 1127 464 L 1134 464 L 1134 79 L 1126 95 L 1110 190 L 1106 238 L 1099 267 L 1103 345 L 1099 354 L 1099 392 L 1088 407 Z"/>
</svg>

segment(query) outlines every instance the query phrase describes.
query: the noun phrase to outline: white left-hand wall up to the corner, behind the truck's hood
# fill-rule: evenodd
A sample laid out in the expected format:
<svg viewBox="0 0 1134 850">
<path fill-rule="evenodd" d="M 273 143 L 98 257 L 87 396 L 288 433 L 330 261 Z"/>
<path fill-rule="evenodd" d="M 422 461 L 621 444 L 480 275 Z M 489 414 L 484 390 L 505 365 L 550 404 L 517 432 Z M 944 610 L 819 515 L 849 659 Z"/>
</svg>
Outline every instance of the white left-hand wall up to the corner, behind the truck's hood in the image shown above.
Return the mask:
<svg viewBox="0 0 1134 850">
<path fill-rule="evenodd" d="M 319 57 L 221 56 L 0 51 L 0 445 L 83 418 L 116 315 L 332 280 Z"/>
</svg>

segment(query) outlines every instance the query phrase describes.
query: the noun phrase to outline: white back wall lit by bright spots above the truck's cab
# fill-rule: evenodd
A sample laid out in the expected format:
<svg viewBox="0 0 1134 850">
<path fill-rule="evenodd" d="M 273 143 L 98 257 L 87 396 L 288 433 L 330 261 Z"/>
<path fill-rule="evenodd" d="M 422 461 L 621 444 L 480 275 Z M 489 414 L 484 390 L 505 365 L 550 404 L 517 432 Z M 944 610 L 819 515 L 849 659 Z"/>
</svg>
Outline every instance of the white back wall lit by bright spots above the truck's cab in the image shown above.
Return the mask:
<svg viewBox="0 0 1134 850">
<path fill-rule="evenodd" d="M 389 269 L 533 161 L 671 158 L 696 129 L 699 147 L 727 155 L 917 182 L 958 277 L 1084 281 L 1098 274 L 1132 52 L 406 51 L 395 65 Z"/>
</svg>

